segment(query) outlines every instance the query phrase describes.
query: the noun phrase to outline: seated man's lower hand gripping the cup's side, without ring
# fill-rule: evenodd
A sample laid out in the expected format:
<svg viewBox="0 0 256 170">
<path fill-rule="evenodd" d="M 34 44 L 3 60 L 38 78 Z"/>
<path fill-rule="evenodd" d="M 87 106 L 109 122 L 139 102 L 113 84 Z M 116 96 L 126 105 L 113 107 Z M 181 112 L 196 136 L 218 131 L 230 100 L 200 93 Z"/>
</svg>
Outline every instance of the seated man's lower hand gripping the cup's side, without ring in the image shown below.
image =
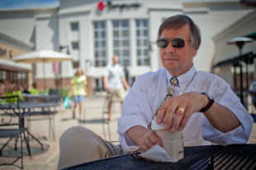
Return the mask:
<svg viewBox="0 0 256 170">
<path fill-rule="evenodd" d="M 153 130 L 148 130 L 144 126 L 133 126 L 126 133 L 135 145 L 140 146 L 140 153 L 145 153 L 154 145 L 163 145 L 159 136 Z"/>
</svg>

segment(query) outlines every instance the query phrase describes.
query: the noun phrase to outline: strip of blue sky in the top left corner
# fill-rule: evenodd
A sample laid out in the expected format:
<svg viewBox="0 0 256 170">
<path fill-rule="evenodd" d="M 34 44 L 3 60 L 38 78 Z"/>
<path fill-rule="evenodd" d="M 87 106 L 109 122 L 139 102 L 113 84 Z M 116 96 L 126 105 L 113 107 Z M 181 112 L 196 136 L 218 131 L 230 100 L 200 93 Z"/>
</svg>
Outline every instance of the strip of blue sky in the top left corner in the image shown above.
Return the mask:
<svg viewBox="0 0 256 170">
<path fill-rule="evenodd" d="M 58 6 L 59 0 L 0 0 L 0 9 Z"/>
</svg>

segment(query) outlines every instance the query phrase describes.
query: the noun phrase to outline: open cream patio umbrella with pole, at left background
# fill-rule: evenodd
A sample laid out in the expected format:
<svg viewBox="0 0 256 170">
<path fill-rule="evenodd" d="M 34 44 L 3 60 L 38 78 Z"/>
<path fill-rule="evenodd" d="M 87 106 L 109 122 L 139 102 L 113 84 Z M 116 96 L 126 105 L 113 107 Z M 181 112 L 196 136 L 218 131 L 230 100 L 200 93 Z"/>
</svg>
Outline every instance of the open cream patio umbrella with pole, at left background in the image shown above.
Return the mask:
<svg viewBox="0 0 256 170">
<path fill-rule="evenodd" d="M 21 56 L 13 57 L 12 60 L 14 62 L 26 62 L 26 63 L 43 62 L 44 64 L 43 74 L 44 74 L 44 85 L 45 85 L 45 62 L 61 62 L 66 60 L 73 60 L 73 57 L 71 55 L 68 55 L 65 53 L 59 53 L 50 49 L 38 49 L 30 53 L 25 53 Z"/>
</svg>

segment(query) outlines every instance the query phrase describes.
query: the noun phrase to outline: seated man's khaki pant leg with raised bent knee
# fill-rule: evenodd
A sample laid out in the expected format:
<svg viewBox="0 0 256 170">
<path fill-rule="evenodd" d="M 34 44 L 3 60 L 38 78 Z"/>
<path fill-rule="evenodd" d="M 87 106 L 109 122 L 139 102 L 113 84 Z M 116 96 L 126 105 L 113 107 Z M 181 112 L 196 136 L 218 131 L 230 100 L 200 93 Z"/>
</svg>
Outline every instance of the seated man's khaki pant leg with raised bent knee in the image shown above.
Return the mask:
<svg viewBox="0 0 256 170">
<path fill-rule="evenodd" d="M 120 146 L 103 140 L 85 127 L 73 126 L 60 136 L 58 169 L 120 154 L 125 154 Z"/>
</svg>

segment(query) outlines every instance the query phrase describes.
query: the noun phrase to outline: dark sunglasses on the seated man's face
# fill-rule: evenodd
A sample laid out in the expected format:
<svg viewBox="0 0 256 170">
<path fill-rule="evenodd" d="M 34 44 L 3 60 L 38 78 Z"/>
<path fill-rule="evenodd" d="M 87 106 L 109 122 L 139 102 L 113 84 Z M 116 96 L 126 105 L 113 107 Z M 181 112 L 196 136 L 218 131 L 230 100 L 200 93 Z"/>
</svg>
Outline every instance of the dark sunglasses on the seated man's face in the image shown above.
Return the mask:
<svg viewBox="0 0 256 170">
<path fill-rule="evenodd" d="M 158 39 L 156 41 L 156 44 L 159 48 L 167 48 L 169 44 L 169 40 L 171 40 L 171 44 L 173 45 L 173 48 L 183 48 L 185 45 L 184 39 Z M 191 41 L 191 40 L 187 40 Z"/>
</svg>

